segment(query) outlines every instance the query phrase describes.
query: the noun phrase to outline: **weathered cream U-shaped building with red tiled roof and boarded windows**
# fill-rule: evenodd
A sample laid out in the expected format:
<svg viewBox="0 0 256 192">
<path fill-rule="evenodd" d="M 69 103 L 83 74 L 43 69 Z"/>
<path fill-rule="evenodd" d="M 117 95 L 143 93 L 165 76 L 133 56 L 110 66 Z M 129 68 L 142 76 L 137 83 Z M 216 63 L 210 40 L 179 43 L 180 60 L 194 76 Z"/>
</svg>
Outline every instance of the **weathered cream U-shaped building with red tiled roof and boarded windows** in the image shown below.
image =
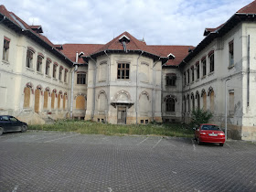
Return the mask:
<svg viewBox="0 0 256 192">
<path fill-rule="evenodd" d="M 106 44 L 55 45 L 1 5 L 0 114 L 188 123 L 200 108 L 224 126 L 227 109 L 229 137 L 256 140 L 256 2 L 204 36 L 196 48 L 147 45 L 128 32 Z"/>
</svg>

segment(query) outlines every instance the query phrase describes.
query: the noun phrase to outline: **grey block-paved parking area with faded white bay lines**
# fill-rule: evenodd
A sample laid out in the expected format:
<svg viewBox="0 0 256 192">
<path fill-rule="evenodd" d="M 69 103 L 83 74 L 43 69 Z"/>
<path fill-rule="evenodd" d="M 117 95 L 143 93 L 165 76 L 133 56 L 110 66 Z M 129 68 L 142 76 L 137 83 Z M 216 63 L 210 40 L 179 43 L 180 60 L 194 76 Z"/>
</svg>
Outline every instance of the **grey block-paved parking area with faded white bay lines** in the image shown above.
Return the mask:
<svg viewBox="0 0 256 192">
<path fill-rule="evenodd" d="M 0 191 L 256 191 L 256 144 L 6 133 L 0 136 Z"/>
</svg>

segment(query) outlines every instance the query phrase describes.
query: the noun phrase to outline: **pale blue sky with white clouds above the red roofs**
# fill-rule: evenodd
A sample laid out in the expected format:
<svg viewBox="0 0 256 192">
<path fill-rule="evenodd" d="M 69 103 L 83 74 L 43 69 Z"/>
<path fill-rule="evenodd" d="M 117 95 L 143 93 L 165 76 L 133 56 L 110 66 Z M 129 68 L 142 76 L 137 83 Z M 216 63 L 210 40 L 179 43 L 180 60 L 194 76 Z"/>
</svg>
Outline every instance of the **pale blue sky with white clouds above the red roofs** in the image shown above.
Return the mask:
<svg viewBox="0 0 256 192">
<path fill-rule="evenodd" d="M 55 44 L 105 44 L 124 31 L 148 45 L 192 45 L 252 0 L 1 0 Z"/>
</svg>

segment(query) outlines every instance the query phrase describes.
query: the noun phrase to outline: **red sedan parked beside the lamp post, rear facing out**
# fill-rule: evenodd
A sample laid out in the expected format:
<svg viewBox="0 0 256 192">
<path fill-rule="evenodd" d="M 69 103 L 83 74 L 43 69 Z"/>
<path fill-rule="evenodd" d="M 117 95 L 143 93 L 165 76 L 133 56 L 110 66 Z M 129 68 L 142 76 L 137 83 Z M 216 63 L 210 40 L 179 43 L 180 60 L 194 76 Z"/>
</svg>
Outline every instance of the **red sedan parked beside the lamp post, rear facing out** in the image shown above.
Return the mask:
<svg viewBox="0 0 256 192">
<path fill-rule="evenodd" d="M 204 123 L 194 129 L 197 144 L 216 143 L 223 146 L 225 143 L 225 133 L 216 124 Z"/>
</svg>

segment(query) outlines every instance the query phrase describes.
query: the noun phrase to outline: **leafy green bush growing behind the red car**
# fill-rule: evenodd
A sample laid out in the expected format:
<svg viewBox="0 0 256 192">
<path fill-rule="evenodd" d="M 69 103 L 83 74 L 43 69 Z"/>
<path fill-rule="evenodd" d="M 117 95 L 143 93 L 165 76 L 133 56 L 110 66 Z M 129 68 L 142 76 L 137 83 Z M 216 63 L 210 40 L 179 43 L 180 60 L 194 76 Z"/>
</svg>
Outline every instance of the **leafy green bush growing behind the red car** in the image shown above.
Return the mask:
<svg viewBox="0 0 256 192">
<path fill-rule="evenodd" d="M 196 109 L 191 113 L 191 127 L 196 127 L 201 123 L 208 123 L 210 118 L 212 117 L 212 113 L 209 111 L 204 111 L 202 109 Z"/>
</svg>

